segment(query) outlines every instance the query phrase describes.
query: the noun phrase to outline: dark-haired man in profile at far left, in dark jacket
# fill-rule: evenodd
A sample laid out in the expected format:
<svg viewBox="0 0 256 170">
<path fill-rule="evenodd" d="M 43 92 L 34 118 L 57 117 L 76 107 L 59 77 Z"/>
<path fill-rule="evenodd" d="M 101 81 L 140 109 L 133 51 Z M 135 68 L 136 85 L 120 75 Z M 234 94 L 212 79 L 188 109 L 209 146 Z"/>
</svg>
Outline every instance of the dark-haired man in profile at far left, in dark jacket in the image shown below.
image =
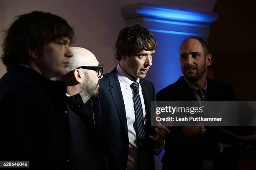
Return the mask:
<svg viewBox="0 0 256 170">
<path fill-rule="evenodd" d="M 64 76 L 74 30 L 63 18 L 33 11 L 5 32 L 0 80 L 0 160 L 29 161 L 33 170 L 69 169 Z M 28 164 L 27 164 L 28 165 Z"/>
</svg>

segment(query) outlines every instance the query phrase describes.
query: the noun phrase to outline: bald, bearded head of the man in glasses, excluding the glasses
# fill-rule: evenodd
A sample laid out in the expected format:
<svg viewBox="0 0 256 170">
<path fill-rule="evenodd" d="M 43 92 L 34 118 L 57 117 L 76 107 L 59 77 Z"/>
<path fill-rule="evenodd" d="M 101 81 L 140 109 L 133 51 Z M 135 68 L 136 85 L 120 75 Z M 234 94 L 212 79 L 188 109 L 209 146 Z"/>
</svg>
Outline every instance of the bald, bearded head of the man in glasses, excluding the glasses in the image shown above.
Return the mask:
<svg viewBox="0 0 256 170">
<path fill-rule="evenodd" d="M 82 47 L 70 47 L 73 57 L 69 59 L 69 67 L 64 80 L 67 82 L 67 94 L 80 93 L 82 100 L 86 102 L 90 97 L 97 96 L 99 78 L 97 71 L 93 69 L 80 68 L 81 66 L 97 66 L 95 55 Z"/>
</svg>

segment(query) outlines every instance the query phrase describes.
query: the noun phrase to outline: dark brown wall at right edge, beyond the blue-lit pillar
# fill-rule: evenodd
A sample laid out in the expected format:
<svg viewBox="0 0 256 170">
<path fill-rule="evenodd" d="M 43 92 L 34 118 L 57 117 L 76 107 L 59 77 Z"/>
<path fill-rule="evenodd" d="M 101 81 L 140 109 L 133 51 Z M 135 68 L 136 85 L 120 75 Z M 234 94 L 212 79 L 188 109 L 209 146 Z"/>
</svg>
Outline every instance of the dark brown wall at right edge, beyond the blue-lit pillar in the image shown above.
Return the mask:
<svg viewBox="0 0 256 170">
<path fill-rule="evenodd" d="M 230 5 L 232 3 L 232 5 Z M 215 78 L 231 83 L 239 100 L 256 100 L 255 6 L 251 1 L 219 0 L 219 19 L 209 37 Z"/>
</svg>

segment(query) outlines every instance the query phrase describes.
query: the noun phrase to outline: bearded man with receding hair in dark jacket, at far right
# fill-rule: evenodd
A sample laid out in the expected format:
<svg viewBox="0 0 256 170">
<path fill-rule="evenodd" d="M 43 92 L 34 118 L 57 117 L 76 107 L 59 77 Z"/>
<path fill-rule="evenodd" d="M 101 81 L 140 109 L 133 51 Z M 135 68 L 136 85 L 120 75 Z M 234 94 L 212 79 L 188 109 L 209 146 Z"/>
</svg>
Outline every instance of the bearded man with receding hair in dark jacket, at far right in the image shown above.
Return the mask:
<svg viewBox="0 0 256 170">
<path fill-rule="evenodd" d="M 207 44 L 199 37 L 189 37 L 180 47 L 180 64 L 184 76 L 160 90 L 158 101 L 236 100 L 231 85 L 207 77 L 212 55 Z M 215 127 L 203 125 L 172 127 L 166 137 L 163 170 L 183 169 L 237 169 L 231 144 L 213 137 Z M 229 128 L 233 130 L 233 128 Z"/>
</svg>

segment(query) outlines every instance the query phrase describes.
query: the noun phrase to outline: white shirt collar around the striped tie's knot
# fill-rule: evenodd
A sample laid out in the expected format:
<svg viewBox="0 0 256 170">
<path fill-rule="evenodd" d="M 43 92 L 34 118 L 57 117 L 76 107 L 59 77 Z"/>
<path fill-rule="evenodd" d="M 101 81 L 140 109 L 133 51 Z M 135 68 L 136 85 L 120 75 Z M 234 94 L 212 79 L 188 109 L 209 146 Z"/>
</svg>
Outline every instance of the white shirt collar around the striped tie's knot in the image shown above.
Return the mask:
<svg viewBox="0 0 256 170">
<path fill-rule="evenodd" d="M 132 77 L 130 75 L 128 75 L 118 64 L 118 66 L 116 67 L 116 72 L 118 75 L 118 79 L 123 83 L 123 85 L 125 86 L 125 88 L 130 87 L 130 85 L 134 82 Z M 138 82 L 140 84 L 140 78 L 136 79 L 136 82 Z M 139 89 L 141 88 L 141 86 L 139 85 Z"/>
</svg>

